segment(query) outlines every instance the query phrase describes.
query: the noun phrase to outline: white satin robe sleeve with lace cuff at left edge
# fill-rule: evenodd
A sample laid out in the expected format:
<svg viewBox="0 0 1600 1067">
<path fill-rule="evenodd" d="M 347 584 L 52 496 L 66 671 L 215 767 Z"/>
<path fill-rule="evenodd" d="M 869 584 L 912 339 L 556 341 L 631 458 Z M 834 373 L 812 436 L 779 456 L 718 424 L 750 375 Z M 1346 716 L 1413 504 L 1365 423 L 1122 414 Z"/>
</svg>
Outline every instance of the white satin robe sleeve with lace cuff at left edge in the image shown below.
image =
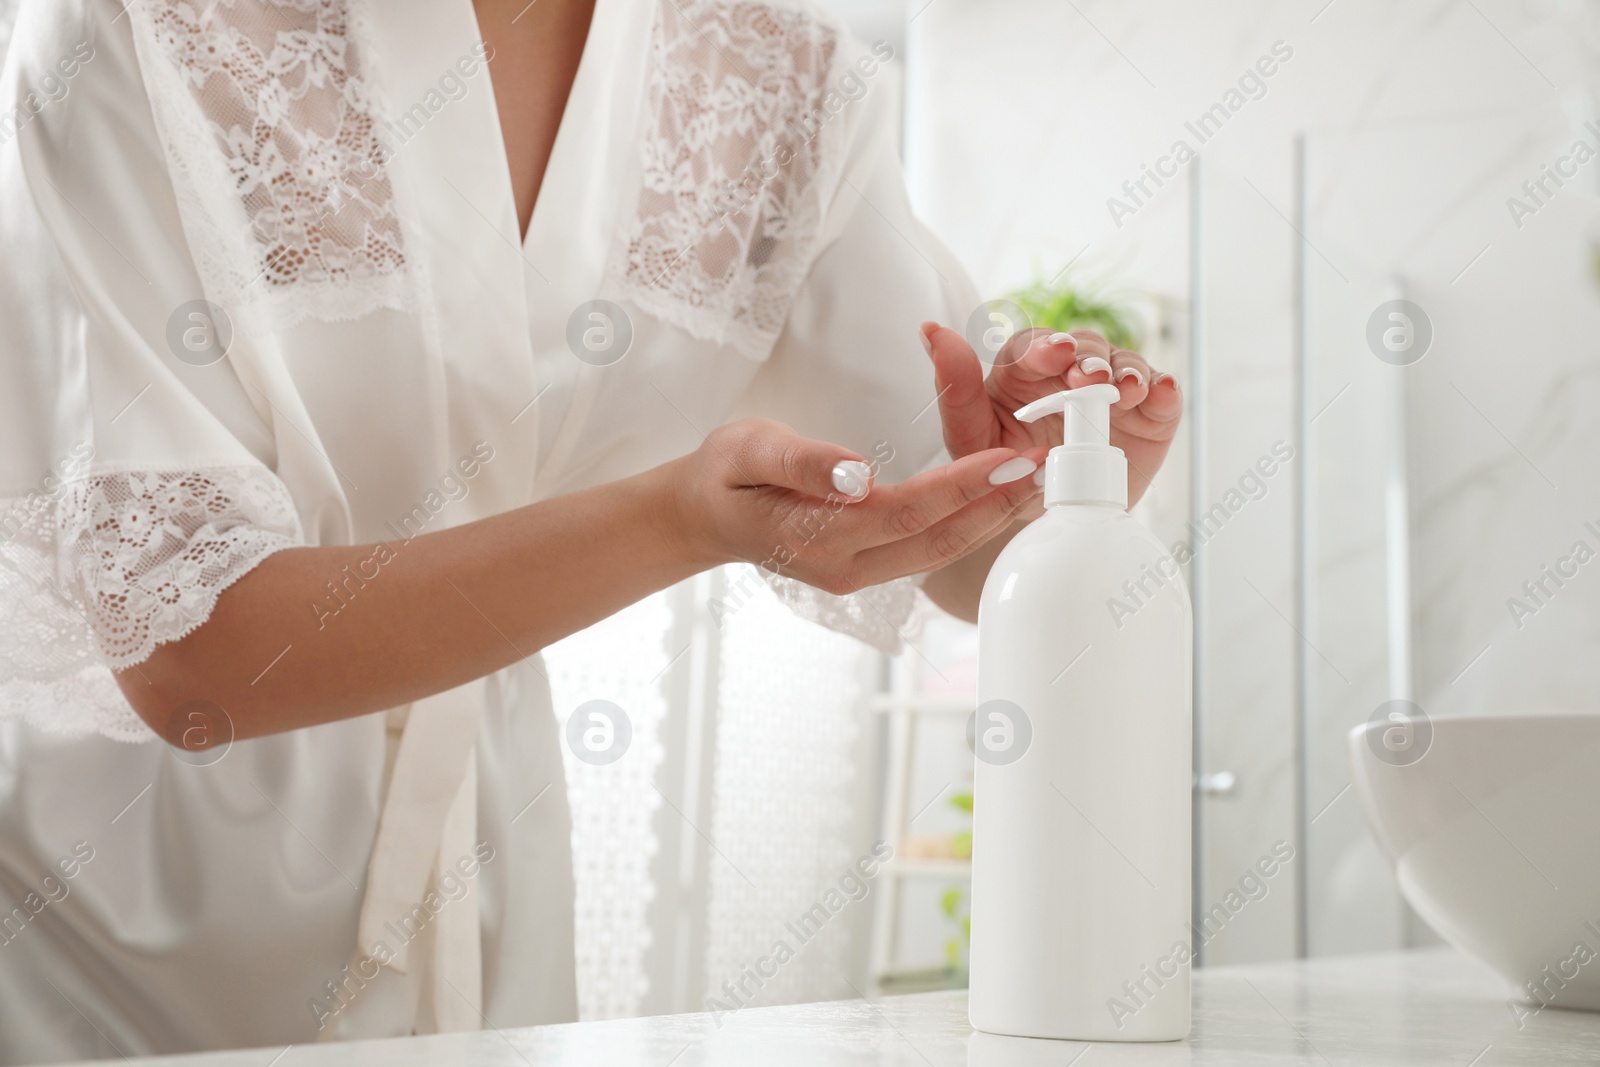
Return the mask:
<svg viewBox="0 0 1600 1067">
<path fill-rule="evenodd" d="M 26 8 L 0 85 L 0 718 L 146 741 L 112 670 L 304 536 L 118 11 Z"/>
</svg>

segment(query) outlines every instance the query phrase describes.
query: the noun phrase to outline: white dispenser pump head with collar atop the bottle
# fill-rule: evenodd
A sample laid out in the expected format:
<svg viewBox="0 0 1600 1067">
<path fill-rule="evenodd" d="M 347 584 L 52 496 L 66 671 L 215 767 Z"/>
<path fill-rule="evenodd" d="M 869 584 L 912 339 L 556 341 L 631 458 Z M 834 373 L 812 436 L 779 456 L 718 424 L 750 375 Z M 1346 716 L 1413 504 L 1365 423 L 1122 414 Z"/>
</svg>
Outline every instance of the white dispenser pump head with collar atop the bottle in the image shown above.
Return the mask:
<svg viewBox="0 0 1600 1067">
<path fill-rule="evenodd" d="M 1061 445 L 1045 461 L 1045 506 L 1115 504 L 1128 507 L 1128 458 L 1110 443 L 1110 406 L 1122 390 L 1106 382 L 1064 389 L 1018 408 L 1016 418 L 1035 422 L 1064 416 Z"/>
</svg>

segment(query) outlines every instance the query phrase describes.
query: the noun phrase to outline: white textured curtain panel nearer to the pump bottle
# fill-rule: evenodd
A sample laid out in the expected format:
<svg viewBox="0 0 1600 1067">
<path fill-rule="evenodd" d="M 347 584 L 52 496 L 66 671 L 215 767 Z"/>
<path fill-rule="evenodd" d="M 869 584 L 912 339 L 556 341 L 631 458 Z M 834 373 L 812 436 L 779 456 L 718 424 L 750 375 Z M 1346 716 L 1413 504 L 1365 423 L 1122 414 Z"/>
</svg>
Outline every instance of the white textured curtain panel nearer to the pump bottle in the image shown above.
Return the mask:
<svg viewBox="0 0 1600 1067">
<path fill-rule="evenodd" d="M 720 659 L 712 837 L 730 862 L 710 869 L 706 995 L 733 1003 L 725 981 L 754 989 L 746 968 L 782 941 L 794 960 L 757 974 L 749 1003 L 850 998 L 850 982 L 866 989 L 854 949 L 870 905 L 846 905 L 803 944 L 786 923 L 870 846 L 877 721 L 862 697 L 880 657 L 762 590 L 728 616 Z"/>
</svg>

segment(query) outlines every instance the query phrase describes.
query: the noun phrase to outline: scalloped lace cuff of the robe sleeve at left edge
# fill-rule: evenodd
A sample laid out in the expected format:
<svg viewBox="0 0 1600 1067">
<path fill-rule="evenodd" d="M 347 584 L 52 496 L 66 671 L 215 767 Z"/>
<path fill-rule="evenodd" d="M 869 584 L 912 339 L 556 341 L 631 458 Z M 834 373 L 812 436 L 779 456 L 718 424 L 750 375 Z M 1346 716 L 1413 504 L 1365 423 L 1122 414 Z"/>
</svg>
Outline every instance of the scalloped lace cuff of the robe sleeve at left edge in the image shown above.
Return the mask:
<svg viewBox="0 0 1600 1067">
<path fill-rule="evenodd" d="M 205 622 L 261 560 L 302 544 L 262 467 L 101 474 L 0 501 L 0 712 L 147 741 L 112 678 Z"/>
</svg>

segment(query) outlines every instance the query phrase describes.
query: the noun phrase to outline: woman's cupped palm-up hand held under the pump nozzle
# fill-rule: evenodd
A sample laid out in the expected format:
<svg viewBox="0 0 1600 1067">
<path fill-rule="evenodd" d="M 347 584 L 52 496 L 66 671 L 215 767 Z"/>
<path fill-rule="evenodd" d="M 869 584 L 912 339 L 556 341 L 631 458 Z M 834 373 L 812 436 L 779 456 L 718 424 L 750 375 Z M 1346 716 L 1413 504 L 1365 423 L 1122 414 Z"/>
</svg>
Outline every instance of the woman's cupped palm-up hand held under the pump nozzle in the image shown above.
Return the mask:
<svg viewBox="0 0 1600 1067">
<path fill-rule="evenodd" d="M 768 419 L 714 430 L 677 461 L 677 542 L 698 566 L 747 561 L 830 593 L 941 568 L 1037 496 L 1045 448 L 971 448 L 898 485 L 862 456 Z"/>
</svg>

